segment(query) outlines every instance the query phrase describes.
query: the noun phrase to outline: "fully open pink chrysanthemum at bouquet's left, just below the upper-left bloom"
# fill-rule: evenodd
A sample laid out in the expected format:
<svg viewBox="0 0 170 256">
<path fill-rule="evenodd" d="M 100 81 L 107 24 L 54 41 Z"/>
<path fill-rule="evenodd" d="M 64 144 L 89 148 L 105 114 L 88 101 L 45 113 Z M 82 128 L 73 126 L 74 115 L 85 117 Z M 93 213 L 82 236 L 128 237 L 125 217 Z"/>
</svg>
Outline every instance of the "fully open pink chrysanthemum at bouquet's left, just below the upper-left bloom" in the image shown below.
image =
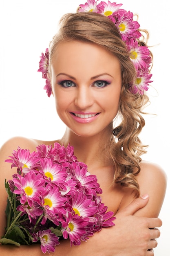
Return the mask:
<svg viewBox="0 0 170 256">
<path fill-rule="evenodd" d="M 18 178 L 13 178 L 13 183 L 17 189 L 13 193 L 21 196 L 21 204 L 28 202 L 32 207 L 33 202 L 40 202 L 41 196 L 45 193 L 44 184 L 45 179 L 41 174 L 36 174 L 33 171 L 29 171 L 22 177 L 17 175 Z"/>
</svg>

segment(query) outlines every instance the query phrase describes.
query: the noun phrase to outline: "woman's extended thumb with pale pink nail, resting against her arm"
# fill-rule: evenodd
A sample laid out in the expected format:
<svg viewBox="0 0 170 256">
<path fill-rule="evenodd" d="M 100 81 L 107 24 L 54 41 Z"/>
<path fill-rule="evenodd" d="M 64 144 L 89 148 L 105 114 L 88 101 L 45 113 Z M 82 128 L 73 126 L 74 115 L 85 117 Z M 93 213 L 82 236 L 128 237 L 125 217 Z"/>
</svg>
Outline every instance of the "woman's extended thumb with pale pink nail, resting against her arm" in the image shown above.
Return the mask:
<svg viewBox="0 0 170 256">
<path fill-rule="evenodd" d="M 136 198 L 127 207 L 121 210 L 121 213 L 124 213 L 126 215 L 133 215 L 136 211 L 146 206 L 148 200 L 149 195 L 143 195 L 140 198 Z"/>
</svg>

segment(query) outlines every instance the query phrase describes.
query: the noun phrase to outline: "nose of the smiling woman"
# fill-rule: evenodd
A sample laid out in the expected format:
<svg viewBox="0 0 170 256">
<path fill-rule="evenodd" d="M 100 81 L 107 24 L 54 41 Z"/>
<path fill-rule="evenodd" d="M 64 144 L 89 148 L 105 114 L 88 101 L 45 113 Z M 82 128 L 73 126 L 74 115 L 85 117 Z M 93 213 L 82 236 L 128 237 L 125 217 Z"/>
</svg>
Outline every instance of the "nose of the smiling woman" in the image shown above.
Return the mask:
<svg viewBox="0 0 170 256">
<path fill-rule="evenodd" d="M 84 85 L 77 87 L 75 95 L 75 106 L 79 109 L 87 109 L 94 102 L 93 92 L 90 87 Z"/>
</svg>

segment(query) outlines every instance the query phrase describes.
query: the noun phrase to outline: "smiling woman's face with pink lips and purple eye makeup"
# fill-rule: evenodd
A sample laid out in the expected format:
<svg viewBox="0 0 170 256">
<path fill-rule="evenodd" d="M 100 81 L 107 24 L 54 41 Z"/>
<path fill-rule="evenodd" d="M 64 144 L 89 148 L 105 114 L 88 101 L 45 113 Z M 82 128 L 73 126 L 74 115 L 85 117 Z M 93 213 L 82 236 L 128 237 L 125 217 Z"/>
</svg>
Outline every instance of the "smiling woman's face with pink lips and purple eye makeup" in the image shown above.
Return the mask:
<svg viewBox="0 0 170 256">
<path fill-rule="evenodd" d="M 102 47 L 62 42 L 52 59 L 52 93 L 59 117 L 75 134 L 93 136 L 117 115 L 121 68 Z"/>
</svg>

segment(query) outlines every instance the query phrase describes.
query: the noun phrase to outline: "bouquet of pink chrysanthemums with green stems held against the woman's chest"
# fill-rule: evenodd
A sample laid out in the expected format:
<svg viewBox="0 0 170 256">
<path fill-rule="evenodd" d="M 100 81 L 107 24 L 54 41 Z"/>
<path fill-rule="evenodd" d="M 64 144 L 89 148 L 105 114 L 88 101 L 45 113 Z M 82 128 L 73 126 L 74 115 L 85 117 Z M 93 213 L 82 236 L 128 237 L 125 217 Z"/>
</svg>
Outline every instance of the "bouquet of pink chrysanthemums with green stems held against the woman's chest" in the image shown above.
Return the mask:
<svg viewBox="0 0 170 256">
<path fill-rule="evenodd" d="M 95 231 L 113 226 L 113 212 L 101 202 L 102 190 L 86 164 L 78 162 L 73 146 L 39 145 L 30 153 L 13 150 L 13 179 L 5 181 L 7 228 L 0 243 L 40 243 L 43 253 L 54 252 L 59 239 L 80 245 Z"/>
</svg>

